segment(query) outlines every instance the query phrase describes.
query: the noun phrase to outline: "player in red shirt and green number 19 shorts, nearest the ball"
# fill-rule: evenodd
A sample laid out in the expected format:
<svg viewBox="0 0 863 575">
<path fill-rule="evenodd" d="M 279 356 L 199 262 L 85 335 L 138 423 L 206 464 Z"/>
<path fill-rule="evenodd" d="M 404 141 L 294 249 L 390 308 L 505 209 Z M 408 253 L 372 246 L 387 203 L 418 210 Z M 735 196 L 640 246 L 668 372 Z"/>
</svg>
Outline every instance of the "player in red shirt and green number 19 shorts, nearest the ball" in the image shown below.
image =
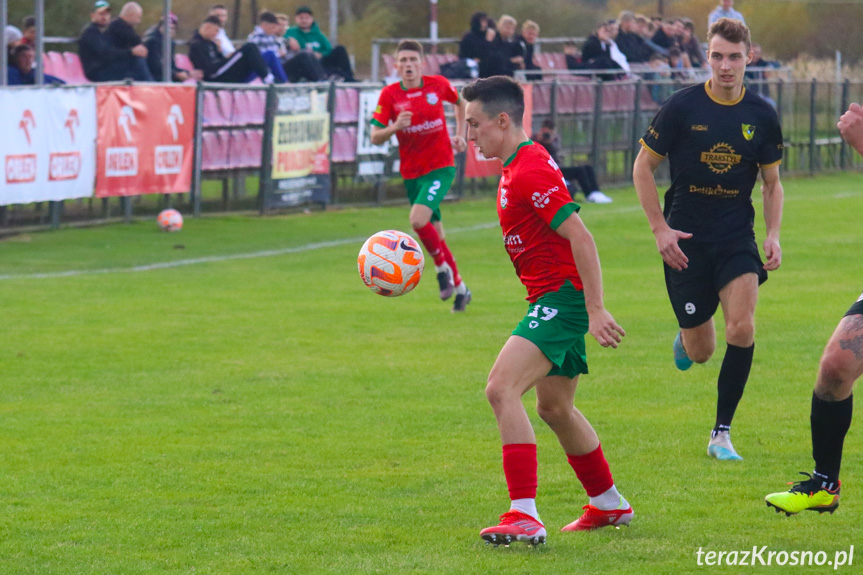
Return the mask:
<svg viewBox="0 0 863 575">
<path fill-rule="evenodd" d="M 545 541 L 536 510 L 536 437 L 522 404 L 531 388 L 539 416 L 557 435 L 590 498 L 585 513 L 562 531 L 628 525 L 632 507 L 614 485 L 596 432 L 573 406 L 579 375 L 587 373 L 585 334 L 613 348 L 625 335 L 603 304 L 593 236 L 578 217 L 560 169 L 524 132 L 521 86 L 492 76 L 466 86 L 462 97 L 468 140 L 485 157 L 503 161 L 497 213 L 529 302 L 488 376 L 486 397 L 503 443 L 511 504 L 500 524 L 480 536 L 495 544 Z"/>
</svg>

